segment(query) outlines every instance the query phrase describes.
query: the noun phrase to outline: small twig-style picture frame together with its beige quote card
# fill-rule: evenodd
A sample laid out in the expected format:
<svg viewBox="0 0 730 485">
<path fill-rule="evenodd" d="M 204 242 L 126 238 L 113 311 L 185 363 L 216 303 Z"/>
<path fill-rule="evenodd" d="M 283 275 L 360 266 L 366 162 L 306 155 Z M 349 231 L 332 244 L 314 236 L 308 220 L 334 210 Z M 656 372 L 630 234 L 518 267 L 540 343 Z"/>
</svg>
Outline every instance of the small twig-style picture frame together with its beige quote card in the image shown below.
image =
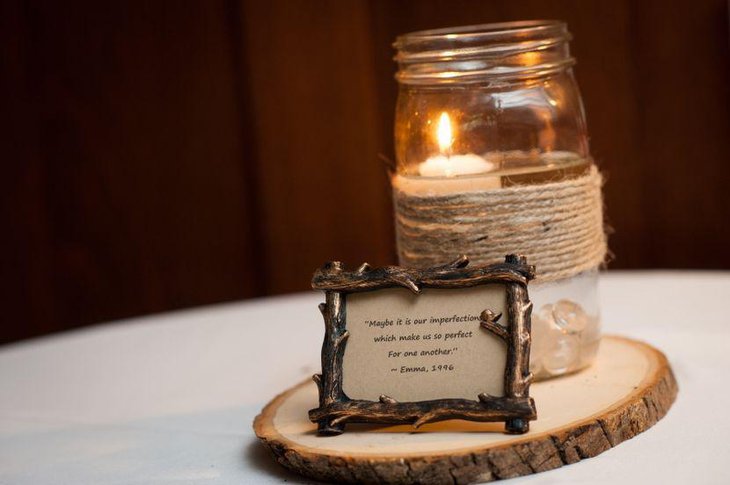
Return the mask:
<svg viewBox="0 0 730 485">
<path fill-rule="evenodd" d="M 509 255 L 469 267 L 460 257 L 428 269 L 317 270 L 325 292 L 319 407 L 309 412 L 322 435 L 347 423 L 446 419 L 505 421 L 524 433 L 536 418 L 529 396 L 534 267 Z"/>
</svg>

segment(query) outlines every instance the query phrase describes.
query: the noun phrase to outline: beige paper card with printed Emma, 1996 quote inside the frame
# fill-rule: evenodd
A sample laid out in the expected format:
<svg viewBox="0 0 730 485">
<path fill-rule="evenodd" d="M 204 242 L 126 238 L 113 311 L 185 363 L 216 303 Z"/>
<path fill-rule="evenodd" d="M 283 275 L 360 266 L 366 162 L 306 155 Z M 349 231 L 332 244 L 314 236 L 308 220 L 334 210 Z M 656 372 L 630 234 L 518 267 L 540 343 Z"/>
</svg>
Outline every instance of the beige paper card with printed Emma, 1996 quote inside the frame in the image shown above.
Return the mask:
<svg viewBox="0 0 730 485">
<path fill-rule="evenodd" d="M 343 389 L 350 399 L 399 402 L 504 395 L 504 342 L 479 325 L 485 309 L 503 313 L 502 284 L 391 288 L 347 295 Z"/>
</svg>

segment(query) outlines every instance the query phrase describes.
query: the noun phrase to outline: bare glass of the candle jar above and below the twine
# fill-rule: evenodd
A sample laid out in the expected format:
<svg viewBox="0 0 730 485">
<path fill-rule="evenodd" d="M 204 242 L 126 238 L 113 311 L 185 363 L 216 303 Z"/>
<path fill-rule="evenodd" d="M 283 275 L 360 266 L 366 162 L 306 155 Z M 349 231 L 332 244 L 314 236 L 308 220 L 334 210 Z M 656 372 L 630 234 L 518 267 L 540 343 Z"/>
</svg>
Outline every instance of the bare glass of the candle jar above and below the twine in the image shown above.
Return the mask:
<svg viewBox="0 0 730 485">
<path fill-rule="evenodd" d="M 398 37 L 394 46 L 400 90 L 392 183 L 401 264 L 421 265 L 417 251 L 406 248 L 404 241 L 426 240 L 428 235 L 411 234 L 399 224 L 397 197 L 494 194 L 579 179 L 595 171 L 569 40 L 566 25 L 558 21 L 487 24 Z M 600 199 L 600 184 L 597 190 Z M 601 208 L 597 210 L 602 217 Z M 448 208 L 440 216 L 448 217 Z M 429 221 L 424 226 L 429 224 L 439 225 Z M 467 236 L 459 227 L 441 239 L 449 239 L 442 241 L 445 245 L 469 248 L 460 244 L 460 237 Z M 479 239 L 474 234 L 469 237 Z M 602 225 L 600 238 L 605 252 Z M 506 252 L 522 251 L 515 247 Z M 498 262 L 466 254 L 478 263 Z M 528 262 L 535 263 L 526 254 Z M 536 377 L 569 373 L 594 359 L 600 340 L 597 270 L 594 262 L 569 276 L 545 279 L 540 278 L 538 265 L 538 278 L 530 285 L 531 368 Z"/>
</svg>

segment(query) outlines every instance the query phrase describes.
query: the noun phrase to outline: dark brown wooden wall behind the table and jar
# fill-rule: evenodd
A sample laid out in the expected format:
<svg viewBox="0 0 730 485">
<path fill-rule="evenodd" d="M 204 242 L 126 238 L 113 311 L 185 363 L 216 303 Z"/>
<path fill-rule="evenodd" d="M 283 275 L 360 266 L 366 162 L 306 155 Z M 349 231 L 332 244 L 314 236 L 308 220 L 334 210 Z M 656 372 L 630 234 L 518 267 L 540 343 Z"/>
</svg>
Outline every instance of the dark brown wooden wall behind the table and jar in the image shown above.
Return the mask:
<svg viewBox="0 0 730 485">
<path fill-rule="evenodd" d="M 730 268 L 724 0 L 4 1 L 0 342 L 395 261 L 399 33 L 564 19 L 613 268 Z"/>
</svg>

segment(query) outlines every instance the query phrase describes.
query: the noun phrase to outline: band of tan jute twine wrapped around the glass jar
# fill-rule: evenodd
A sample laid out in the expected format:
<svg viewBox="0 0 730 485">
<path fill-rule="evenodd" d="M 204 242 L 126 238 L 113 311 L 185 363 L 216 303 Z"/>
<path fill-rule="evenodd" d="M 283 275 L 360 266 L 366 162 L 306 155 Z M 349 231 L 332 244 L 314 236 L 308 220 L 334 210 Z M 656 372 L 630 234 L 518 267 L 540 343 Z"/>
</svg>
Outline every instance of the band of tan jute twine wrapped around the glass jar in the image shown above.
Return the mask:
<svg viewBox="0 0 730 485">
<path fill-rule="evenodd" d="M 536 281 L 574 276 L 603 263 L 602 178 L 418 196 L 394 184 L 400 263 L 427 267 L 460 254 L 473 264 L 504 262 L 518 253 L 537 270 Z"/>
</svg>

